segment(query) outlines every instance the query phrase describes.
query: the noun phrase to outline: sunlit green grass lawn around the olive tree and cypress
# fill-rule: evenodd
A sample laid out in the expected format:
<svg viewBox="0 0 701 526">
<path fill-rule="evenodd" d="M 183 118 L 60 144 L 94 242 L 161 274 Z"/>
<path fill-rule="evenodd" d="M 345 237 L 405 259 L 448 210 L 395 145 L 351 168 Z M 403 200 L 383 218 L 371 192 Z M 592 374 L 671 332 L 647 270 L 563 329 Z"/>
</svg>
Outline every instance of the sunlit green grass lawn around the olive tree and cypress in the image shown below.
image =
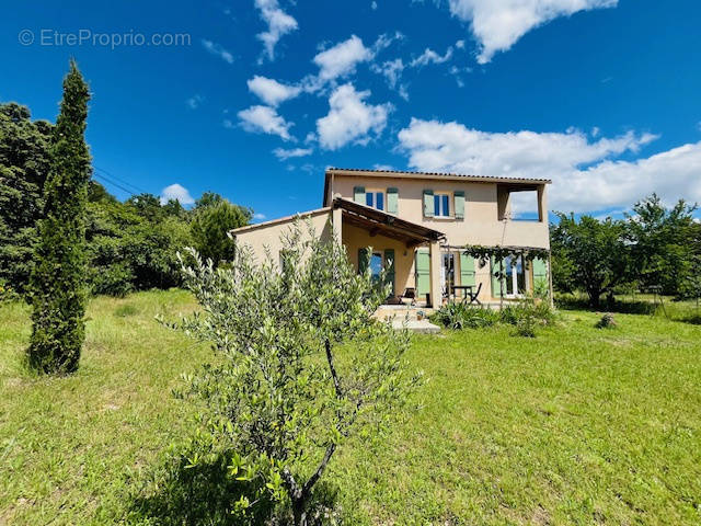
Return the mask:
<svg viewBox="0 0 701 526">
<path fill-rule="evenodd" d="M 97 298 L 80 371 L 46 379 L 22 367 L 26 309 L 0 306 L 0 525 L 125 516 L 186 436 L 191 402 L 171 389 L 209 356 L 153 316 L 193 308 L 182 291 Z M 537 339 L 416 336 L 421 410 L 383 443 L 347 444 L 327 473 L 346 523 L 699 524 L 701 325 L 597 319 L 563 311 Z"/>
</svg>

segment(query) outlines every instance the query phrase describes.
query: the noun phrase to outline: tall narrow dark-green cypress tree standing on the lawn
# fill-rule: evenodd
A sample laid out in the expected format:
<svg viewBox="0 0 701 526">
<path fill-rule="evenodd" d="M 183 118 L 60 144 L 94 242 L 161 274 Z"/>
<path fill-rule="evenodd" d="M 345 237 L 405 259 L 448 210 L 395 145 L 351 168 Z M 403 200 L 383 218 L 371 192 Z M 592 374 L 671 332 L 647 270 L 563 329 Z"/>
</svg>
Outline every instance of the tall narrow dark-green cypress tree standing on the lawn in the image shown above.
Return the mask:
<svg viewBox="0 0 701 526">
<path fill-rule="evenodd" d="M 30 284 L 33 327 L 28 363 L 48 374 L 76 371 L 85 338 L 84 216 L 91 167 L 84 134 L 89 100 L 88 84 L 71 60 L 54 129 Z"/>
</svg>

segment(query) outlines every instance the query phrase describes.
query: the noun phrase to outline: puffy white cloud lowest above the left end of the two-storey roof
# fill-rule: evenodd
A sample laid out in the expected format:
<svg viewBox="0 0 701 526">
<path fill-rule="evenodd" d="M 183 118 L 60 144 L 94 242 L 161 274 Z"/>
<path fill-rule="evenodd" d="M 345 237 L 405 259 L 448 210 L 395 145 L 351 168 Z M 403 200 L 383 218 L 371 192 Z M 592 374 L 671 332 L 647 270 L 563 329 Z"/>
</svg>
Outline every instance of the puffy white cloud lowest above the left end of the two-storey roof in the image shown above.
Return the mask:
<svg viewBox="0 0 701 526">
<path fill-rule="evenodd" d="M 387 125 L 391 104 L 371 105 L 364 101 L 369 91 L 355 91 L 347 83 L 336 88 L 329 99 L 330 111 L 325 117 L 317 121 L 319 144 L 327 150 L 336 150 L 348 142 L 366 145 L 370 133 L 376 136 Z"/>
</svg>

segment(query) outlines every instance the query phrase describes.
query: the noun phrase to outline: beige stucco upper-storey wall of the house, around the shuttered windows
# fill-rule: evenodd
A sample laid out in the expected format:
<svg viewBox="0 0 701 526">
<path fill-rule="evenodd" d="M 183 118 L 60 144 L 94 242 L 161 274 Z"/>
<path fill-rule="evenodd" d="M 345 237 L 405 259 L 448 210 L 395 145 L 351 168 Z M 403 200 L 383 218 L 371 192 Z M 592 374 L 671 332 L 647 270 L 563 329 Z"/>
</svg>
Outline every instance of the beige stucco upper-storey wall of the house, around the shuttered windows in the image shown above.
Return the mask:
<svg viewBox="0 0 701 526">
<path fill-rule="evenodd" d="M 341 194 L 353 201 L 353 188 L 365 186 L 367 191 L 399 188 L 398 216 L 434 230 L 441 231 L 450 245 L 519 245 L 550 248 L 548 221 L 499 221 L 497 184 L 492 182 L 462 182 L 440 179 L 382 178 L 335 174 L 327 188 L 327 195 Z M 424 190 L 466 194 L 464 220 L 453 218 L 424 217 Z M 543 185 L 542 192 L 545 192 Z M 543 195 L 544 201 L 544 195 Z M 453 201 L 451 197 L 451 213 Z M 504 198 L 502 201 L 504 203 Z"/>
</svg>

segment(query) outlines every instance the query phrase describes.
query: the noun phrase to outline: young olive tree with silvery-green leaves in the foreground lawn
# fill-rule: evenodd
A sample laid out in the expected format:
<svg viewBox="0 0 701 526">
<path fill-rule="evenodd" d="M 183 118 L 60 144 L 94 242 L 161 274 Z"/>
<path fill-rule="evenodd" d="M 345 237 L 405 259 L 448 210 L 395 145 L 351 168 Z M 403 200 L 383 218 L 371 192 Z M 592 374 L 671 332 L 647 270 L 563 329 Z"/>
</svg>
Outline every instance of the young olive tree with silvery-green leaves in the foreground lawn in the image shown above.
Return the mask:
<svg viewBox="0 0 701 526">
<path fill-rule="evenodd" d="M 260 482 L 253 502 L 287 503 L 296 525 L 337 447 L 386 422 L 418 380 L 404 371 L 407 336 L 372 319 L 387 290 L 335 241 L 306 238 L 299 225 L 284 238 L 281 268 L 245 247 L 227 268 L 192 251 L 185 282 L 203 310 L 177 324 L 218 355 L 192 382 L 208 410 L 188 462 L 228 451 L 232 478 Z"/>
</svg>

